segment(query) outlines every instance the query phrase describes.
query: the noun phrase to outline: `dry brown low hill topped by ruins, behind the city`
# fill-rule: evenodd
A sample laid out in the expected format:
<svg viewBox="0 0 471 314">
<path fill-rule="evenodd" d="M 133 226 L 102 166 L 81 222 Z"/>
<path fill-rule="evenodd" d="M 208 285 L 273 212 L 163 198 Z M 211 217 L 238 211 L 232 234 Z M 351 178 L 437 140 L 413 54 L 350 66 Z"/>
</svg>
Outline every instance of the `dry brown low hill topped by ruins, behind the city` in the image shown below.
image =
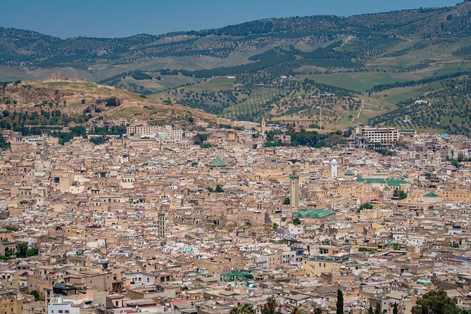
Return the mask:
<svg viewBox="0 0 471 314">
<path fill-rule="evenodd" d="M 194 121 L 222 122 L 203 111 L 86 81 L 27 81 L 0 85 L 0 128 L 23 134 L 123 118 L 149 120 L 157 125 L 188 125 L 190 117 Z"/>
</svg>

